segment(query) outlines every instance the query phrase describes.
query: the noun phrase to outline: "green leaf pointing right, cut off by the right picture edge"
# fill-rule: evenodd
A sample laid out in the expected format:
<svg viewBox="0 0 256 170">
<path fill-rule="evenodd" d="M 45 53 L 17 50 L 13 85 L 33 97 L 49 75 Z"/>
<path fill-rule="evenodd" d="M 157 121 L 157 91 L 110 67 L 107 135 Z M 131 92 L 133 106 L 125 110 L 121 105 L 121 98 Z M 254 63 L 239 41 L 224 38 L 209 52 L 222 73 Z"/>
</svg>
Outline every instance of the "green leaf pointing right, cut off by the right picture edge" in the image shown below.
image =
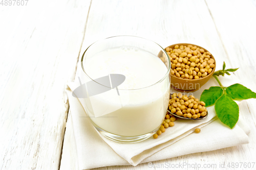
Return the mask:
<svg viewBox="0 0 256 170">
<path fill-rule="evenodd" d="M 233 84 L 227 87 L 226 92 L 233 99 L 256 99 L 256 93 L 241 84 Z"/>
</svg>

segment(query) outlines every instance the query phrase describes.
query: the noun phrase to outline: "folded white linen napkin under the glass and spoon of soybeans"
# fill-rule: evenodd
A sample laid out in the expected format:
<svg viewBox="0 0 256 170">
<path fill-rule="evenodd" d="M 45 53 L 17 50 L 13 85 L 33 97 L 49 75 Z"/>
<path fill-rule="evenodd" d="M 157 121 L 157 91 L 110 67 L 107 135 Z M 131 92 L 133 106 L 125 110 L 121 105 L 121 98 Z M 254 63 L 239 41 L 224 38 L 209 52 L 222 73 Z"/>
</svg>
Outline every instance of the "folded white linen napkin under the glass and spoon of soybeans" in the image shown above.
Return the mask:
<svg viewBox="0 0 256 170">
<path fill-rule="evenodd" d="M 220 80 L 224 86 L 239 82 L 234 75 L 226 76 L 225 79 L 220 77 Z M 248 143 L 248 136 L 246 135 L 246 133 L 249 133 L 248 127 L 241 120 L 233 129 L 223 125 L 217 119 L 214 106 L 207 108 L 209 115 L 205 119 L 195 121 L 177 119 L 175 126 L 167 128 L 157 139 L 151 137 L 138 143 L 118 143 L 105 138 L 93 128 L 83 109 L 83 102 L 79 102 L 77 98 L 72 96 L 72 91 L 79 86 L 78 81 L 68 85 L 67 93 L 72 114 L 79 169 L 129 164 L 135 166 L 139 163 Z M 215 85 L 218 86 L 218 83 L 214 78 L 211 78 L 193 94 L 196 98 L 200 98 L 204 89 Z M 201 128 L 201 133 L 193 133 L 196 128 Z M 195 142 L 200 140 L 202 144 L 193 148 L 183 144 L 191 140 Z"/>
</svg>

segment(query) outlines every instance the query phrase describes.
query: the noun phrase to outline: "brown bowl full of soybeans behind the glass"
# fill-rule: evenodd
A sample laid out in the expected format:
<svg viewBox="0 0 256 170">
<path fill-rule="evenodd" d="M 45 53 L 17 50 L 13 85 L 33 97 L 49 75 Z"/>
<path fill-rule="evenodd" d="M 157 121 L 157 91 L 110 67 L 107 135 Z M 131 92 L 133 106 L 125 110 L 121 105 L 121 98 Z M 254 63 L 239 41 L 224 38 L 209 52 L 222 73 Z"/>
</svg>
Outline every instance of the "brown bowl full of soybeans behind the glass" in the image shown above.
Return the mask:
<svg viewBox="0 0 256 170">
<path fill-rule="evenodd" d="M 216 61 L 205 48 L 177 43 L 165 48 L 170 58 L 171 86 L 178 91 L 196 91 L 214 74 Z"/>
</svg>

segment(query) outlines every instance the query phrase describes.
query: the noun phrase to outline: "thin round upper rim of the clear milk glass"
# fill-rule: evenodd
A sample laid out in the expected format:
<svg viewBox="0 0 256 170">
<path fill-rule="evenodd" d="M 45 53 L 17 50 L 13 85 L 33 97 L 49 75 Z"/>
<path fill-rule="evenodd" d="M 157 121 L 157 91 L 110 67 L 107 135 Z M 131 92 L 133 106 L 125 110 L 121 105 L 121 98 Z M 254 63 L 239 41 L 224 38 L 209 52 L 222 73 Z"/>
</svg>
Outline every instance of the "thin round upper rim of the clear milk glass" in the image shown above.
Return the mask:
<svg viewBox="0 0 256 170">
<path fill-rule="evenodd" d="M 142 37 L 138 37 L 138 36 L 133 36 L 133 35 L 118 35 L 118 36 L 112 36 L 112 37 L 108 37 L 108 38 L 103 38 L 103 39 L 100 39 L 100 40 L 95 41 L 94 43 L 99 42 L 99 41 L 102 41 L 102 40 L 105 40 L 105 39 L 114 38 L 114 37 L 136 37 L 136 38 L 141 38 L 141 39 L 144 39 L 144 40 L 147 40 L 147 41 L 151 41 L 151 42 L 155 43 L 156 45 L 158 45 L 160 48 L 162 48 L 163 52 L 164 52 L 165 55 L 166 55 L 166 58 L 167 58 L 167 60 L 168 60 L 168 63 L 169 63 L 169 66 L 167 67 L 166 74 L 162 77 L 162 79 L 160 79 L 160 80 L 157 81 L 156 83 L 154 83 L 154 84 L 152 84 L 152 85 L 149 85 L 149 86 L 146 86 L 146 87 L 142 87 L 142 88 L 136 88 L 136 89 L 119 89 L 119 88 L 118 88 L 118 90 L 140 90 L 140 89 L 148 88 L 148 87 L 151 87 L 151 86 L 154 86 L 154 85 L 156 85 L 156 84 L 161 83 L 161 82 L 169 75 L 169 72 L 170 72 L 170 59 L 169 59 L 169 57 L 168 57 L 168 54 L 167 54 L 167 52 L 164 50 L 164 48 L 163 48 L 161 45 L 159 45 L 158 43 L 156 43 L 155 41 L 152 41 L 152 40 L 149 40 L 149 39 L 146 39 L 146 38 L 142 38 Z M 94 81 L 94 80 L 86 73 L 86 70 L 84 69 L 82 62 L 83 62 L 84 54 L 86 54 L 87 50 L 88 50 L 88 49 L 90 48 L 90 46 L 92 46 L 94 43 L 92 43 L 91 45 L 89 45 L 89 46 L 87 47 L 87 49 L 86 49 L 86 51 L 84 51 L 84 53 L 83 53 L 83 55 L 82 55 L 82 57 L 81 57 L 81 61 L 80 61 L 80 62 L 81 62 L 81 67 L 82 67 L 82 70 L 83 70 L 84 74 L 86 74 L 92 81 Z M 97 84 L 100 84 L 100 83 L 98 83 L 98 82 L 96 82 L 96 81 L 94 81 L 94 82 L 97 83 Z M 103 85 L 103 84 L 100 84 L 100 85 L 105 86 L 105 85 Z M 105 86 L 105 87 L 108 87 L 108 86 Z M 112 88 L 112 87 L 108 87 L 108 88 Z M 115 87 L 115 88 L 116 88 L 116 87 Z M 112 88 L 112 89 L 115 89 L 115 88 Z"/>
</svg>

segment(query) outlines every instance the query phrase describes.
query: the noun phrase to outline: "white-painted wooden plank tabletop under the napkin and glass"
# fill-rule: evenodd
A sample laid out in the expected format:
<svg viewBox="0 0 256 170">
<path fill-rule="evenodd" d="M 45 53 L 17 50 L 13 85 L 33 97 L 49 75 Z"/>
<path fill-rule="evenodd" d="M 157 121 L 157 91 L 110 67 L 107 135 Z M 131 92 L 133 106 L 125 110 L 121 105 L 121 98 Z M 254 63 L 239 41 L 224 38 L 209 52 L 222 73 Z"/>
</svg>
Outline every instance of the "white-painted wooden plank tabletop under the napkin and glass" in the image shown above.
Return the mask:
<svg viewBox="0 0 256 170">
<path fill-rule="evenodd" d="M 2 2 L 1 169 L 78 169 L 65 88 L 74 80 L 84 50 L 101 38 L 135 35 L 162 47 L 198 44 L 227 68 L 239 67 L 235 75 L 256 91 L 255 1 Z M 221 67 L 219 62 L 217 69 Z M 251 129 L 248 144 L 152 163 L 255 162 L 255 102 L 239 106 Z M 98 169 L 147 168 L 148 163 Z"/>
</svg>

